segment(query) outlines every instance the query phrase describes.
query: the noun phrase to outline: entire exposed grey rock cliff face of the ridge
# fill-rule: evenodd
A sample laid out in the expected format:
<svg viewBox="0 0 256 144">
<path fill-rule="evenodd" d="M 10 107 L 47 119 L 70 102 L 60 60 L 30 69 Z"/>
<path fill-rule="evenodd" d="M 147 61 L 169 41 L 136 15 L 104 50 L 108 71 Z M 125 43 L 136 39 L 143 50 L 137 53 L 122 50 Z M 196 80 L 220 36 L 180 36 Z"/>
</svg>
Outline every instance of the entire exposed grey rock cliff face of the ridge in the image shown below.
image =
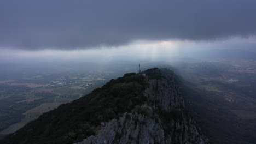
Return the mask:
<svg viewBox="0 0 256 144">
<path fill-rule="evenodd" d="M 155 69 L 161 79 L 147 79 L 150 86 L 144 92 L 148 103 L 141 106 L 146 113 L 124 113 L 119 119 L 101 123 L 96 135 L 79 144 L 89 143 L 208 143 L 195 121 L 184 110 L 174 74 Z M 174 111 L 174 113 L 173 113 Z M 167 117 L 167 118 L 166 118 Z"/>
</svg>

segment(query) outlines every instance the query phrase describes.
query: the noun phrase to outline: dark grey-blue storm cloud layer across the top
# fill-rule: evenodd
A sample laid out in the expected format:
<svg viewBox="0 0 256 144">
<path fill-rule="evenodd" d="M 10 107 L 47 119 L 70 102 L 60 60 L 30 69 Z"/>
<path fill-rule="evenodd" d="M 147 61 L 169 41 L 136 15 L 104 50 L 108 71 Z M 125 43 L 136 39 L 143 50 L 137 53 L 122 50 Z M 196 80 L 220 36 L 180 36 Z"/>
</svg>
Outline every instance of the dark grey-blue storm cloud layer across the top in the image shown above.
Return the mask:
<svg viewBox="0 0 256 144">
<path fill-rule="evenodd" d="M 256 1 L 0 2 L 0 46 L 74 49 L 256 35 Z"/>
</svg>

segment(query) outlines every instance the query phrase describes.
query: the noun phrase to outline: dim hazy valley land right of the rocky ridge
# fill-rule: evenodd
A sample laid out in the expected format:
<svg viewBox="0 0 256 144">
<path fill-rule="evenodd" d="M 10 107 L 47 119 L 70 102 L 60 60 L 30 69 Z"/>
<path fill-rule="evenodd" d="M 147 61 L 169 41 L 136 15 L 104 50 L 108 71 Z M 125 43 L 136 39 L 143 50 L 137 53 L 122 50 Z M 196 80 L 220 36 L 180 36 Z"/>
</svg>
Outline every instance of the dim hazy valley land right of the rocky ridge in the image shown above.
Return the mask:
<svg viewBox="0 0 256 144">
<path fill-rule="evenodd" d="M 183 93 L 212 143 L 256 140 L 256 61 L 187 62 Z"/>
</svg>

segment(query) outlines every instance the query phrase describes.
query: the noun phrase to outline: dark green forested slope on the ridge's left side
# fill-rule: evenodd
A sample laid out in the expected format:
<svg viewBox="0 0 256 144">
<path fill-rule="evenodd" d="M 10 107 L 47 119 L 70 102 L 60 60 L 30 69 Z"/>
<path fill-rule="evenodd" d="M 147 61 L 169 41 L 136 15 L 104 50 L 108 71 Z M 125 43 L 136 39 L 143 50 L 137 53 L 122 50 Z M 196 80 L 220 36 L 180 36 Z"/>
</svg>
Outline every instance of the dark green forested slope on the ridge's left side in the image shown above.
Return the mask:
<svg viewBox="0 0 256 144">
<path fill-rule="evenodd" d="M 4 143 L 73 143 L 94 135 L 100 122 L 108 122 L 147 101 L 143 91 L 149 83 L 131 73 L 111 80 L 85 97 L 44 113 L 35 121 L 10 134 Z M 138 109 L 138 106 L 136 106 Z M 139 107 L 138 111 L 144 112 Z"/>
</svg>

